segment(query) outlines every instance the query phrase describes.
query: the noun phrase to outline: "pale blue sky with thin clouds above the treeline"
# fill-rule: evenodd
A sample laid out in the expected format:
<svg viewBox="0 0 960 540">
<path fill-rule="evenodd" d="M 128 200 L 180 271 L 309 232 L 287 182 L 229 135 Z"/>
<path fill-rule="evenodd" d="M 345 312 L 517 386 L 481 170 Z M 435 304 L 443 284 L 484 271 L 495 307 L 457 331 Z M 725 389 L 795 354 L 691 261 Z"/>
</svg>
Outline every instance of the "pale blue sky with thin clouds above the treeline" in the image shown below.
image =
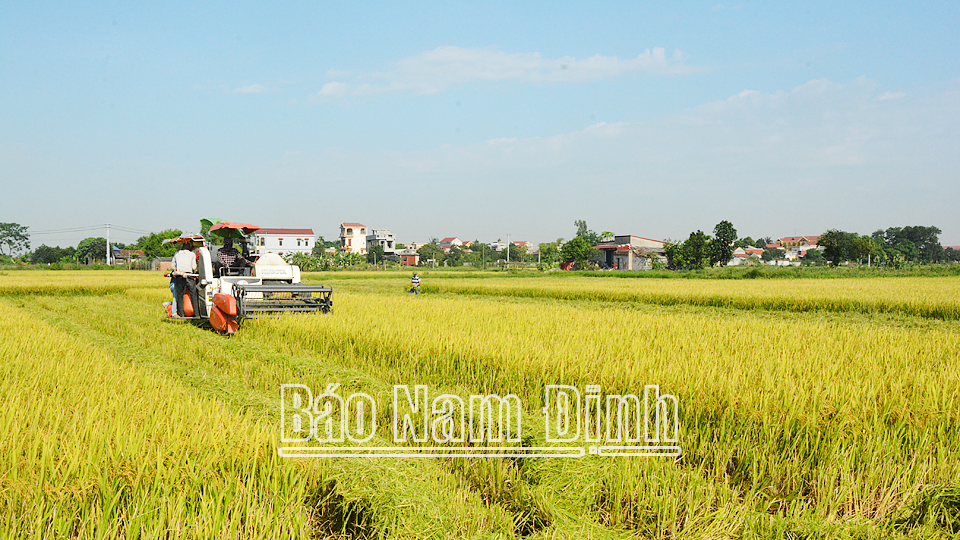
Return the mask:
<svg viewBox="0 0 960 540">
<path fill-rule="evenodd" d="M 957 28 L 957 2 L 4 2 L 0 221 L 957 245 Z"/>
</svg>

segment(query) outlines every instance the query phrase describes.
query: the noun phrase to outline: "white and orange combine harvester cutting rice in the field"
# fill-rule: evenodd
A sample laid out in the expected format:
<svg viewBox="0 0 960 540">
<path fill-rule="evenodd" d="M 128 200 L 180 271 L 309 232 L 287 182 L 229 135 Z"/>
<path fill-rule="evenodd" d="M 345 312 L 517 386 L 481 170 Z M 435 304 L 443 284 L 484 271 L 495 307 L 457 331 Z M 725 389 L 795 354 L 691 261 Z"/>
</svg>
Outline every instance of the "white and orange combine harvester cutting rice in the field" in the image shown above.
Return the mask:
<svg viewBox="0 0 960 540">
<path fill-rule="evenodd" d="M 246 257 L 246 235 L 257 229 L 246 223 L 221 222 L 210 227 L 210 232 L 237 239 Z M 333 312 L 333 290 L 301 283 L 300 268 L 275 253 L 261 255 L 252 266 L 223 267 L 200 235 L 164 242 L 188 243 L 197 259 L 197 272 L 185 275 L 183 317 L 179 320 L 231 335 L 245 319 Z"/>
</svg>

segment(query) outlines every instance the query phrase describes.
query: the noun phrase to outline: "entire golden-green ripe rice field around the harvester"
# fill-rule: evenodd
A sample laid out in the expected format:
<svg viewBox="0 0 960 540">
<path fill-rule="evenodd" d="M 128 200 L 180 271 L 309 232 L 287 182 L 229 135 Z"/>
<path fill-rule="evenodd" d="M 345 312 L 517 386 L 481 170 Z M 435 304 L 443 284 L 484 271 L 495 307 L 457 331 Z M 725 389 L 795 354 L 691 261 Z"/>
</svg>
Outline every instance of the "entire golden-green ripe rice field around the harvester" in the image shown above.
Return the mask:
<svg viewBox="0 0 960 540">
<path fill-rule="evenodd" d="M 0 275 L 0 537 L 960 534 L 960 278 L 490 275 L 306 274 L 332 316 L 231 339 L 164 320 L 156 273 Z M 279 385 L 329 382 L 513 393 L 530 425 L 545 384 L 658 384 L 683 454 L 277 457 Z"/>
</svg>

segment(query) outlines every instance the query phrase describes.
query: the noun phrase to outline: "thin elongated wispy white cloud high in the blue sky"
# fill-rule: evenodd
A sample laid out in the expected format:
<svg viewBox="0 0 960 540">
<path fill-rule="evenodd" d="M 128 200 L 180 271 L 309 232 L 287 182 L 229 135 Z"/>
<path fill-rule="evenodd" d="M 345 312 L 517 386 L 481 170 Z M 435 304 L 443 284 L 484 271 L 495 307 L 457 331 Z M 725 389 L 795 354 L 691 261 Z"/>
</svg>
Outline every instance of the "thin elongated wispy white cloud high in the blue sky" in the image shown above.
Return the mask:
<svg viewBox="0 0 960 540">
<path fill-rule="evenodd" d="M 593 55 L 578 60 L 572 56 L 544 58 L 540 53 L 506 53 L 495 47 L 438 47 L 398 61 L 391 70 L 360 74 L 355 82 L 327 83 L 319 98 L 371 96 L 392 92 L 413 92 L 429 95 L 453 85 L 519 81 L 525 83 L 582 83 L 610 79 L 631 72 L 688 74 L 700 68 L 683 63 L 677 49 L 668 59 L 661 47 L 647 49 L 635 58 Z M 328 71 L 329 76 L 348 72 Z M 331 86 L 334 85 L 334 86 Z M 330 89 L 336 89 L 336 92 Z"/>
</svg>

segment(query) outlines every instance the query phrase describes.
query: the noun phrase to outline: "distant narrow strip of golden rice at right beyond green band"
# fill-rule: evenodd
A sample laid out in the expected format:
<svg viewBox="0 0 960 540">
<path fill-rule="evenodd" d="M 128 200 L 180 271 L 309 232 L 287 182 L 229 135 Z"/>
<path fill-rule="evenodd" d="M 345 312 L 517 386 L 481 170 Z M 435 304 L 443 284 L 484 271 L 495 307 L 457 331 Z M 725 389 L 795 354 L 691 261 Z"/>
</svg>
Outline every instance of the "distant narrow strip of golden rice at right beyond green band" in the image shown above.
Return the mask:
<svg viewBox="0 0 960 540">
<path fill-rule="evenodd" d="M 679 279 L 444 279 L 424 282 L 425 293 L 644 302 L 660 305 L 899 313 L 960 319 L 960 278 L 803 280 Z"/>
</svg>

